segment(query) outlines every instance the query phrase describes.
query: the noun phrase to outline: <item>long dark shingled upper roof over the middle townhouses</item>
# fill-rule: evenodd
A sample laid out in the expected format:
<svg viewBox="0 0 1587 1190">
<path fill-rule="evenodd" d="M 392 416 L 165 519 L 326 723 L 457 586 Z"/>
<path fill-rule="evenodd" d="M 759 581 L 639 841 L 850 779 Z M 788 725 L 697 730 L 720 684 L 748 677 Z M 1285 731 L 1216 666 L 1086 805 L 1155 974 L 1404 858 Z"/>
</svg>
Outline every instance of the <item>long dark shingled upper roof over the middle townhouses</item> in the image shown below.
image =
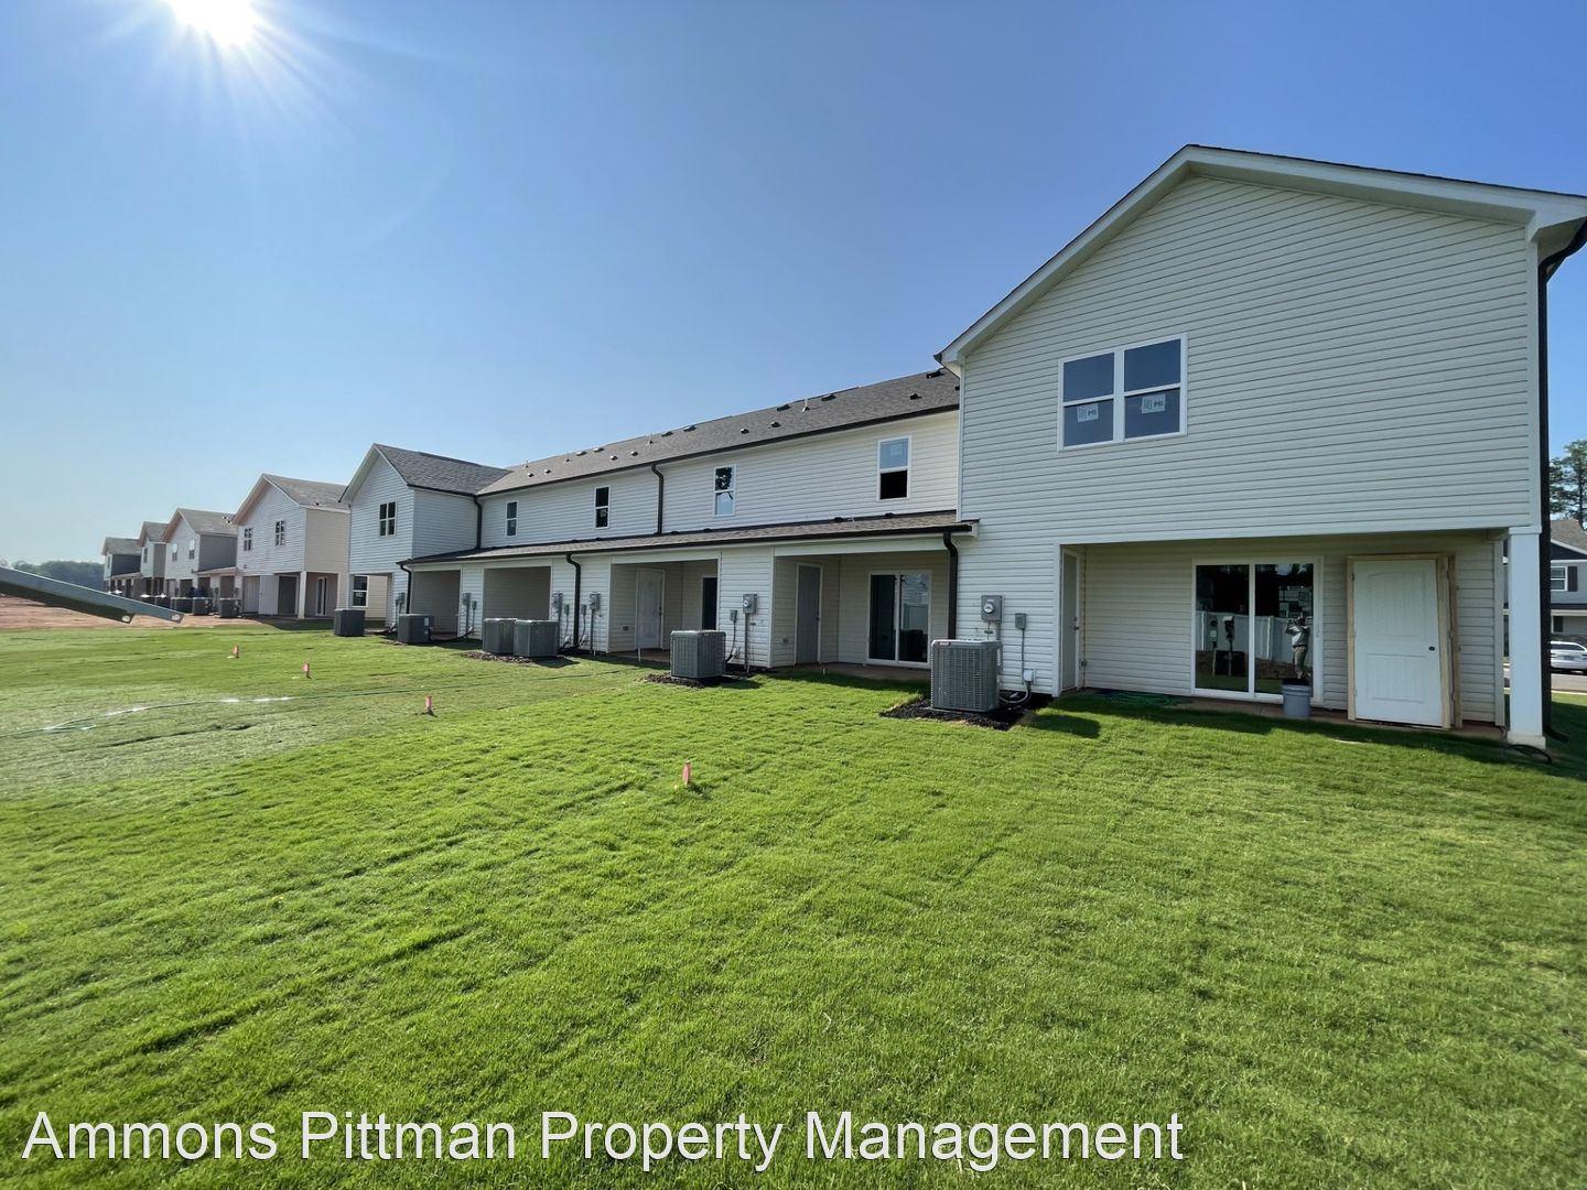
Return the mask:
<svg viewBox="0 0 1587 1190">
<path fill-rule="evenodd" d="M 805 438 L 830 430 L 851 430 L 959 408 L 959 378 L 941 368 L 911 376 L 862 384 L 854 389 L 784 401 L 752 413 L 716 417 L 674 430 L 624 438 L 608 446 L 536 459 L 514 466 L 484 492 L 511 492 L 524 487 L 586 479 L 608 471 L 649 466 L 743 446 Z"/>
</svg>

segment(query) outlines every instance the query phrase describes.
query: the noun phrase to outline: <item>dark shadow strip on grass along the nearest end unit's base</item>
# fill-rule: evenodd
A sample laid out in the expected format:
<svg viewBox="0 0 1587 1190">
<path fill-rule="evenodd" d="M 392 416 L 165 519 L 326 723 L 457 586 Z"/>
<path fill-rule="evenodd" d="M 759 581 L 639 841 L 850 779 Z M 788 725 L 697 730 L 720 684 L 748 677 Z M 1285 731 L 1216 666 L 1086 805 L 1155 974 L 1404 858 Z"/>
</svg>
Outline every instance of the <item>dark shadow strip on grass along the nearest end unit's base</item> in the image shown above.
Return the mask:
<svg viewBox="0 0 1587 1190">
<path fill-rule="evenodd" d="M 1101 738 L 1101 722 L 1084 712 L 1093 711 L 1109 719 L 1133 719 L 1149 724 L 1212 728 L 1244 736 L 1324 736 L 1352 744 L 1379 744 L 1408 754 L 1452 755 L 1485 765 L 1524 765 L 1538 773 L 1587 781 L 1587 704 L 1554 701 L 1554 724 L 1568 743 L 1557 744 L 1547 763 L 1535 752 L 1514 749 L 1498 739 L 1435 731 L 1395 730 L 1360 724 L 1338 724 L 1317 719 L 1270 719 L 1239 711 L 1205 711 L 1192 706 L 1139 706 L 1095 695 L 1070 695 L 1038 711 L 1028 722 L 1036 731 L 1059 731 L 1087 739 Z"/>
</svg>

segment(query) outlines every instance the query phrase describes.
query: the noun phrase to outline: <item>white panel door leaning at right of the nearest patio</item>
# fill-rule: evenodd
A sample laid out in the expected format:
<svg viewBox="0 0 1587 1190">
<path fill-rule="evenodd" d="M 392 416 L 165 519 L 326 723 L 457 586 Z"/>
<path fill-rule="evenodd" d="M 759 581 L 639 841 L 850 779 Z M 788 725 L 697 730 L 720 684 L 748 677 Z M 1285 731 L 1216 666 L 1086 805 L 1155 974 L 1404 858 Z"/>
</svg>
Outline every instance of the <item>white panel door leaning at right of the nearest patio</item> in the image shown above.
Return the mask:
<svg viewBox="0 0 1587 1190">
<path fill-rule="evenodd" d="M 1447 725 L 1438 563 L 1351 563 L 1351 681 L 1357 719 Z"/>
</svg>

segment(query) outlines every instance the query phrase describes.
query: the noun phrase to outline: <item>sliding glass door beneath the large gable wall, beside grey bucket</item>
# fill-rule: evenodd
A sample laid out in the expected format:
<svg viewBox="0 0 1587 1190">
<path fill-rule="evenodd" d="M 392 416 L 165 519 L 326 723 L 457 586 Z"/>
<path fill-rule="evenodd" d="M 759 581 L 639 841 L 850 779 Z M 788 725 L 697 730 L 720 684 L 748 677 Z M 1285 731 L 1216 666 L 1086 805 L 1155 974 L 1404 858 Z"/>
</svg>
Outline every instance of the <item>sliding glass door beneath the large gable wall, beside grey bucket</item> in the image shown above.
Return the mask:
<svg viewBox="0 0 1587 1190">
<path fill-rule="evenodd" d="M 1316 574 L 1311 562 L 1198 563 L 1197 693 L 1279 698 L 1284 682 L 1316 689 Z"/>
</svg>

